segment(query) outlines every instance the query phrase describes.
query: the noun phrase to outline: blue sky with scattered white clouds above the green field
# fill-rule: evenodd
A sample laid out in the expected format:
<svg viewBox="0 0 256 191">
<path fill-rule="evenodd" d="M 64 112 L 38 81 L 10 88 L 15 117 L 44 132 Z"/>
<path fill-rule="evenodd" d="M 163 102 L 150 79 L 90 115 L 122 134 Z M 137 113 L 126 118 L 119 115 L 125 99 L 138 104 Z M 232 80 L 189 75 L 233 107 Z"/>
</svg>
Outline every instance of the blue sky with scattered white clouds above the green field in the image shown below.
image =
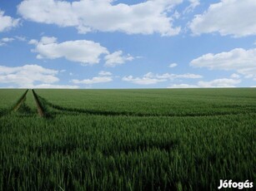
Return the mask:
<svg viewBox="0 0 256 191">
<path fill-rule="evenodd" d="M 0 0 L 0 88 L 256 87 L 255 0 Z"/>
</svg>

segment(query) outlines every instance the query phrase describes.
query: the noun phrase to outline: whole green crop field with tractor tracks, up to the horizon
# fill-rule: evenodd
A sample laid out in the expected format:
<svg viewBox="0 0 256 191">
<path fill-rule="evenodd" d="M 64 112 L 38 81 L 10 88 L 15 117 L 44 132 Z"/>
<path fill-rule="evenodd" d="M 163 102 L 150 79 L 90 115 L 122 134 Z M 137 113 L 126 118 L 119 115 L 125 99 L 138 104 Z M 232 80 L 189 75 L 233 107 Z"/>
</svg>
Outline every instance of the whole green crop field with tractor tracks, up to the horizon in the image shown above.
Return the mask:
<svg viewBox="0 0 256 191">
<path fill-rule="evenodd" d="M 217 190 L 256 178 L 256 89 L 0 90 L 1 190 Z"/>
</svg>

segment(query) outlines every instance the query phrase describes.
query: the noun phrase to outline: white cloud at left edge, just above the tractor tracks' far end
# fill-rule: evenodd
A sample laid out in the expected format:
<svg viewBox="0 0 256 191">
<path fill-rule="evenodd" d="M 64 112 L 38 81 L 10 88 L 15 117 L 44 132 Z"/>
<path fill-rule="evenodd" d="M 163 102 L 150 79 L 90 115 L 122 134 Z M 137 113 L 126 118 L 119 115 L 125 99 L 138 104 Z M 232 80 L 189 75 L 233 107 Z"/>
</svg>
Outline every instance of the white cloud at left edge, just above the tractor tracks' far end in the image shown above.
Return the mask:
<svg viewBox="0 0 256 191">
<path fill-rule="evenodd" d="M 58 71 L 38 65 L 0 66 L 0 83 L 18 87 L 33 87 L 35 83 L 52 84 L 59 81 Z"/>
</svg>

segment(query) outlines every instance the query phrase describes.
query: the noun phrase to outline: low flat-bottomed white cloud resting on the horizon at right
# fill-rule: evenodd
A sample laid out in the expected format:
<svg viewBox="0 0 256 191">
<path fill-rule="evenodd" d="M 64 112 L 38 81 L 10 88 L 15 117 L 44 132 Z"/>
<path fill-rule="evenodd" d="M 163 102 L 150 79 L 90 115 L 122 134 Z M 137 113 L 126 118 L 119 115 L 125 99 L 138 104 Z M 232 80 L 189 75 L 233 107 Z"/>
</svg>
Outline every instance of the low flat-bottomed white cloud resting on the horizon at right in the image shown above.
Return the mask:
<svg viewBox="0 0 256 191">
<path fill-rule="evenodd" d="M 172 86 L 168 86 L 168 88 L 208 88 L 208 87 L 235 87 L 241 82 L 238 79 L 216 79 L 213 81 L 198 81 L 197 85 L 189 85 L 189 84 L 173 84 Z"/>
</svg>

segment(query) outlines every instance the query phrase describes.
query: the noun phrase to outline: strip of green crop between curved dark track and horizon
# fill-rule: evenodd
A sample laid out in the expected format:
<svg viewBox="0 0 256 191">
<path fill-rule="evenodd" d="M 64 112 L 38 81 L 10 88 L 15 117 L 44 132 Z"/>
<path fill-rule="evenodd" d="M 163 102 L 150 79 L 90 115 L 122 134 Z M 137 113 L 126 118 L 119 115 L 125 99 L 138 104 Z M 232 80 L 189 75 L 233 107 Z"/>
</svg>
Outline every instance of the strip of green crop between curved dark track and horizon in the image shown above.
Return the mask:
<svg viewBox="0 0 256 191">
<path fill-rule="evenodd" d="M 55 111 L 99 115 L 235 115 L 256 112 L 255 89 L 38 90 Z"/>
</svg>

